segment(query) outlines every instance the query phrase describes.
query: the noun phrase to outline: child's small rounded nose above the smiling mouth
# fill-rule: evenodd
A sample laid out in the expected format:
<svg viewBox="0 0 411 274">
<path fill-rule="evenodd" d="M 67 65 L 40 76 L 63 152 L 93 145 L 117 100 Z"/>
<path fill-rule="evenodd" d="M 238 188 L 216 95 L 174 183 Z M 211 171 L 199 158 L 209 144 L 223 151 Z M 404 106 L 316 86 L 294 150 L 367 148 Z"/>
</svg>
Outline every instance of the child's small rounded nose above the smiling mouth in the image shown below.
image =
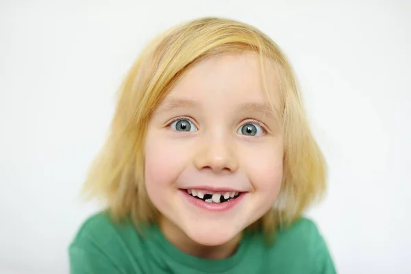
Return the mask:
<svg viewBox="0 0 411 274">
<path fill-rule="evenodd" d="M 238 159 L 232 141 L 205 138 L 201 142 L 194 158 L 197 169 L 210 169 L 214 173 L 237 171 Z"/>
</svg>

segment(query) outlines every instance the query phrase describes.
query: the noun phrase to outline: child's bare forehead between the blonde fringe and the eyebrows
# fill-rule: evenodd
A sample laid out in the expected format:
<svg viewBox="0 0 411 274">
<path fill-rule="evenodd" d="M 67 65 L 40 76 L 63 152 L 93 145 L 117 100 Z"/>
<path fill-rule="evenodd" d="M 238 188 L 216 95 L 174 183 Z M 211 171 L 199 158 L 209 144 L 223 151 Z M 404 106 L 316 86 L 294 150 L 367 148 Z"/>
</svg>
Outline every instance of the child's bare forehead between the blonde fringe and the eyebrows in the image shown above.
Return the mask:
<svg viewBox="0 0 411 274">
<path fill-rule="evenodd" d="M 264 91 L 261 64 L 257 53 L 225 53 L 206 58 L 186 71 L 166 96 L 165 101 L 224 103 L 226 108 L 238 103 L 278 104 L 279 87 L 271 61 L 264 60 Z M 169 100 L 167 100 L 169 99 Z"/>
</svg>

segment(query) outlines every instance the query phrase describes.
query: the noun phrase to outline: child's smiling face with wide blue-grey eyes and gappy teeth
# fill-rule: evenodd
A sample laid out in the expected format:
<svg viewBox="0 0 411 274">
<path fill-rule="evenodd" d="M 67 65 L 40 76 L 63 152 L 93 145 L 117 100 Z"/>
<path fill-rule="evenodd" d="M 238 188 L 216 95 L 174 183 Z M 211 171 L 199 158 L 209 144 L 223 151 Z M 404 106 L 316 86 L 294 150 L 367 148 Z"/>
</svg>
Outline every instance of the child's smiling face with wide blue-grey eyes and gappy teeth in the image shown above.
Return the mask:
<svg viewBox="0 0 411 274">
<path fill-rule="evenodd" d="M 164 234 L 177 227 L 201 245 L 222 245 L 273 205 L 283 140 L 260 79 L 254 53 L 208 58 L 188 70 L 153 113 L 145 184 Z M 278 105 L 277 83 L 268 88 Z"/>
</svg>

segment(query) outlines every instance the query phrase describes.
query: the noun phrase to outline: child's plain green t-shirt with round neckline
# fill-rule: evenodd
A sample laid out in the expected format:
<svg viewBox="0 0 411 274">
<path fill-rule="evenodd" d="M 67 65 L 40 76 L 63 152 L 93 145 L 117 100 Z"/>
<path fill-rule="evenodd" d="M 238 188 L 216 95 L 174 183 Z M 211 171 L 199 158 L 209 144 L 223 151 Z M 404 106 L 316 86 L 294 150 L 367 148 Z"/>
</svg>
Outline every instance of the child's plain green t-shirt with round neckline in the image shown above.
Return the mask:
<svg viewBox="0 0 411 274">
<path fill-rule="evenodd" d="M 245 234 L 223 260 L 190 256 L 174 247 L 158 226 L 139 234 L 131 221 L 113 223 L 106 213 L 90 217 L 69 247 L 72 274 L 336 273 L 327 246 L 308 219 L 299 219 L 266 245 L 262 233 Z"/>
</svg>

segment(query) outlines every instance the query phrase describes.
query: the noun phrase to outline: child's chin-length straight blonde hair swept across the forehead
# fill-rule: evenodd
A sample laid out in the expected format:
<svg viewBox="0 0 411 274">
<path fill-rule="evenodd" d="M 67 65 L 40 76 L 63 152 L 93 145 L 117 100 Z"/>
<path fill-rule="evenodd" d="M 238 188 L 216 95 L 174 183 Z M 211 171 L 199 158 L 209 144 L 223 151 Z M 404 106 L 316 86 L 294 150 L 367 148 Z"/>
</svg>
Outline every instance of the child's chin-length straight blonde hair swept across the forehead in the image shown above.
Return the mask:
<svg viewBox="0 0 411 274">
<path fill-rule="evenodd" d="M 290 225 L 325 190 L 325 160 L 306 119 L 295 75 L 285 55 L 260 30 L 225 18 L 199 18 L 177 25 L 142 51 L 119 89 L 108 136 L 93 162 L 84 190 L 104 199 L 115 219 L 155 223 L 159 212 L 144 183 L 145 133 L 151 112 L 190 66 L 221 53 L 253 51 L 260 57 L 262 82 L 276 77 L 284 136 L 284 178 L 273 208 L 250 227 L 275 232 Z M 277 75 L 266 75 L 264 58 Z"/>
</svg>

